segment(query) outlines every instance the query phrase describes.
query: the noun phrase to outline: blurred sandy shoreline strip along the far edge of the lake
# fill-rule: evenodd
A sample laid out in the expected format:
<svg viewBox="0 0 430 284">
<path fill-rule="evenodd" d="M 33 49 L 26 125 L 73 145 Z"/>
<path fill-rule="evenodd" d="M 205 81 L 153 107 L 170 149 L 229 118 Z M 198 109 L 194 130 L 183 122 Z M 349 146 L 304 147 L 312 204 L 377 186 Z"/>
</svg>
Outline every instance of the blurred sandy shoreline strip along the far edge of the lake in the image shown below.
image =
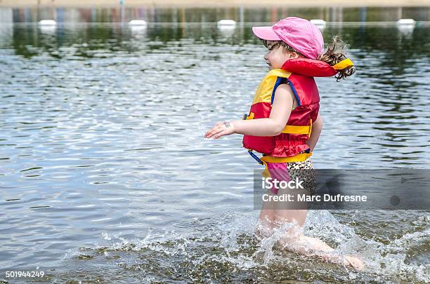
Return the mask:
<svg viewBox="0 0 430 284">
<path fill-rule="evenodd" d="M 300 8 L 300 7 L 428 7 L 430 0 L 306 0 L 287 2 L 285 0 L 123 0 L 127 7 L 153 7 L 153 8 Z M 74 8 L 111 8 L 122 4 L 121 0 L 0 0 L 0 7 L 31 8 L 40 6 L 74 7 Z"/>
</svg>

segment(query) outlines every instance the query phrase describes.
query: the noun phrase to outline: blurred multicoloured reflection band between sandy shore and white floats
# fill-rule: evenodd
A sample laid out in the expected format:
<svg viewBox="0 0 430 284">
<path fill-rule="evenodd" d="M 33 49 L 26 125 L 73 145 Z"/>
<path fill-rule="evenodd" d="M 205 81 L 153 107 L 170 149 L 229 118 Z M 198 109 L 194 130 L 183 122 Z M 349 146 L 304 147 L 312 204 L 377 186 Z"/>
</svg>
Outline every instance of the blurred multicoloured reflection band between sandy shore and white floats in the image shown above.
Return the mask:
<svg viewBox="0 0 430 284">
<path fill-rule="evenodd" d="M 141 19 L 147 22 L 218 22 L 231 19 L 237 22 L 277 22 L 294 15 L 327 22 L 386 22 L 401 18 L 417 21 L 430 20 L 430 7 L 319 7 L 319 8 L 63 8 L 36 6 L 32 8 L 1 8 L 0 22 L 38 22 L 52 19 L 57 22 L 129 22 Z"/>
</svg>

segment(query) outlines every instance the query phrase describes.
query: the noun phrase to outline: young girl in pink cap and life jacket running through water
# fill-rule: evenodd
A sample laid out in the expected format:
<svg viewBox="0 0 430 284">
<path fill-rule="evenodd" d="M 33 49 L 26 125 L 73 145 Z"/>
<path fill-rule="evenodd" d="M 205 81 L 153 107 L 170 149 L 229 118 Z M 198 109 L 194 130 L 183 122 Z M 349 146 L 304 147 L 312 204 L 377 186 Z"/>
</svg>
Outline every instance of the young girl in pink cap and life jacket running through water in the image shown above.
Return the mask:
<svg viewBox="0 0 430 284">
<path fill-rule="evenodd" d="M 244 135 L 244 147 L 256 161 L 266 166 L 263 176 L 289 181 L 293 176 L 312 173 L 310 156 L 323 128 L 320 98 L 313 77 L 337 74 L 339 81 L 355 70 L 351 60 L 338 50 L 336 38 L 323 54 L 323 35 L 308 20 L 289 17 L 272 27 L 253 27 L 252 31 L 268 48 L 264 60 L 270 71 L 256 90 L 249 114 L 243 120 L 216 123 L 204 137 Z M 341 49 L 343 47 L 340 45 Z M 253 150 L 263 157 L 257 157 Z M 309 184 L 313 177 L 301 178 L 306 180 L 312 194 Z M 268 194 L 283 194 L 283 190 L 271 189 Z M 273 234 L 273 229 L 282 224 L 295 224 L 278 241 L 282 247 L 302 254 L 311 250 L 330 262 L 363 269 L 364 264 L 357 257 L 341 257 L 323 241 L 301 234 L 306 210 L 286 210 L 285 204 L 282 206 L 280 208 L 274 201 L 263 202 L 259 218 L 265 228 L 259 235 Z"/>
</svg>

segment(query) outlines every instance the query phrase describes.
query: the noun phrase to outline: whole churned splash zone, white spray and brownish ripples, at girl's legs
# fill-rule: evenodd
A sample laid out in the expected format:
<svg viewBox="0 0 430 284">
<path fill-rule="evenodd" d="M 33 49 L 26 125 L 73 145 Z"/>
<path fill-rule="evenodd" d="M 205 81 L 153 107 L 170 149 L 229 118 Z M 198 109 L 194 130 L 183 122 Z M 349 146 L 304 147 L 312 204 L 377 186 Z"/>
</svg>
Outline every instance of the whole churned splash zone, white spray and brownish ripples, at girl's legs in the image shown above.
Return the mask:
<svg viewBox="0 0 430 284">
<path fill-rule="evenodd" d="M 425 219 L 422 222 L 425 223 Z M 422 222 L 419 223 L 421 227 L 424 226 Z M 232 273 L 257 271 L 258 274 L 266 275 L 286 271 L 287 266 L 289 269 L 297 270 L 289 271 L 289 276 L 285 276 L 291 279 L 301 277 L 300 273 L 315 277 L 320 271 L 328 269 L 332 270 L 325 277 L 332 280 L 354 280 L 364 276 L 381 281 L 401 279 L 426 282 L 430 279 L 427 264 L 413 263 L 408 259 L 410 248 L 428 242 L 429 228 L 404 234 L 401 238 L 384 245 L 359 236 L 351 226 L 340 224 L 328 211 L 309 211 L 303 231 L 299 230 L 296 233 L 319 238 L 330 244 L 334 250 L 329 254 L 339 256 L 340 260 L 345 255 L 356 255 L 363 259 L 365 269 L 355 271 L 343 265 L 316 260 L 321 258 L 321 252 L 307 248 L 306 245 L 299 248 L 289 247 L 288 244 L 280 245 L 280 240 L 285 238 L 286 232 L 294 228 L 295 224 L 278 225 L 272 231 L 264 231 L 261 222 L 254 215 L 228 212 L 221 217 L 201 220 L 197 229 L 192 231 L 150 230 L 143 238 L 134 239 L 125 238 L 121 232 L 116 234 L 103 232 L 103 240 L 107 241 L 108 245 L 96 245 L 92 250 L 100 255 L 102 252 L 104 255 L 106 252 L 110 252 L 110 255 L 137 254 L 137 257 L 131 257 L 129 262 L 124 260 L 124 257 L 119 259 L 119 264 L 124 269 L 148 272 L 148 264 L 141 261 L 150 259 L 148 261 L 157 262 L 151 264 L 151 269 L 167 267 L 175 275 L 177 273 L 184 277 L 193 276 L 197 280 L 209 277 L 212 273 L 215 275 L 220 269 Z M 193 224 L 193 228 L 195 227 Z M 303 250 L 305 256 L 290 252 L 297 249 Z M 312 262 L 313 266 L 306 270 L 301 269 L 304 262 L 308 261 Z M 195 269 L 191 267 L 206 269 L 206 276 L 196 276 Z M 148 275 L 150 277 L 148 279 L 158 278 L 156 273 Z"/>
</svg>

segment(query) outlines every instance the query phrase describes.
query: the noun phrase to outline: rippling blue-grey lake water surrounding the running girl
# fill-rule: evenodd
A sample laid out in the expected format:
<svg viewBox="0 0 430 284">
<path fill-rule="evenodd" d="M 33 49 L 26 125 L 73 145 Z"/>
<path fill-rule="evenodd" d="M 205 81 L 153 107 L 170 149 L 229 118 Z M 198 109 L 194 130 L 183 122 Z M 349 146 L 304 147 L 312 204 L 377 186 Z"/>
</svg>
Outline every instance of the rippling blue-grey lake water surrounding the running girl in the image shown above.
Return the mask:
<svg viewBox="0 0 430 284">
<path fill-rule="evenodd" d="M 305 231 L 363 272 L 253 236 L 240 119 L 265 74 L 251 25 L 2 25 L 0 279 L 50 283 L 430 281 L 430 215 L 313 211 Z M 429 168 L 430 27 L 329 25 L 358 72 L 318 79 L 316 168 Z M 20 283 L 24 279 L 7 279 Z"/>
</svg>

